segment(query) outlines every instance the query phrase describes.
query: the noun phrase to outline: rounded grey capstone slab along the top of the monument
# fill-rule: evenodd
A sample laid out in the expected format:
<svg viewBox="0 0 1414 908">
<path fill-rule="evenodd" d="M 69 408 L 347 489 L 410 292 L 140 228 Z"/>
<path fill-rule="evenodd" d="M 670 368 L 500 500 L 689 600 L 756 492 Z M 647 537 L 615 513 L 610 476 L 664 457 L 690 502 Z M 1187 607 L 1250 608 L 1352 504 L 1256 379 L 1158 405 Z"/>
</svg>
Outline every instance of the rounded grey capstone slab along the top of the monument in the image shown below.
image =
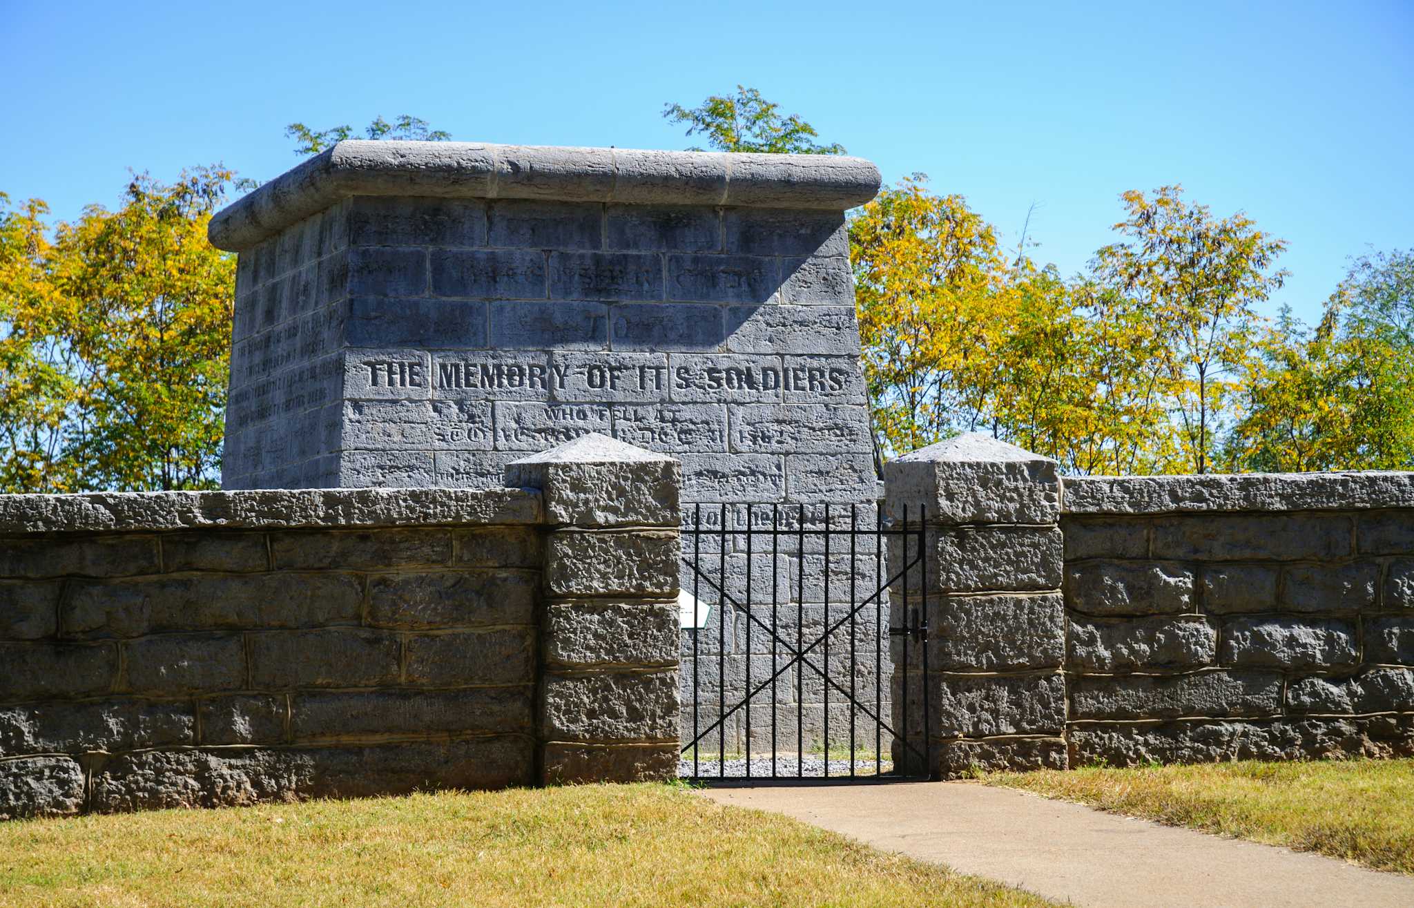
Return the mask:
<svg viewBox="0 0 1414 908">
<path fill-rule="evenodd" d="M 208 236 L 242 252 L 351 195 L 844 211 L 880 182 L 871 161 L 833 154 L 345 140 L 216 212 Z"/>
</svg>

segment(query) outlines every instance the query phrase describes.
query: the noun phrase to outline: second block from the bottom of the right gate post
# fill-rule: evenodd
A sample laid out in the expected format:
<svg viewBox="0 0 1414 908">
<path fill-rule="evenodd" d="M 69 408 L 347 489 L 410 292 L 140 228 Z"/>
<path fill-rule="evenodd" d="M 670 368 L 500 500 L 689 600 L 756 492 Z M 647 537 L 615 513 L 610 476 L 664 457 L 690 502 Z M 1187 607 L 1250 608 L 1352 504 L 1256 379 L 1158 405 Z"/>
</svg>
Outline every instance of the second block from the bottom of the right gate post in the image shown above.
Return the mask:
<svg viewBox="0 0 1414 908">
<path fill-rule="evenodd" d="M 1065 731 L 1065 676 L 945 675 L 933 683 L 933 734 L 984 738 Z M 894 694 L 898 699 L 898 694 Z"/>
</svg>

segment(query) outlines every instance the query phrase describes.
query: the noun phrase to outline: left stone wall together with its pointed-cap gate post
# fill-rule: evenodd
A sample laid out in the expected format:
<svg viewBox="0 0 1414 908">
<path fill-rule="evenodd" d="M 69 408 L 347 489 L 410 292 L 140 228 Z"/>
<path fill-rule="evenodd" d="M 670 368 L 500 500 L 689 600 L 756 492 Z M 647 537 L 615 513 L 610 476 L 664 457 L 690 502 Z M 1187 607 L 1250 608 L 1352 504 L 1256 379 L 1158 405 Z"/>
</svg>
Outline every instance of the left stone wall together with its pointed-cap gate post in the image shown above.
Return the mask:
<svg viewBox="0 0 1414 908">
<path fill-rule="evenodd" d="M 0 496 L 0 819 L 673 775 L 679 464 Z"/>
</svg>

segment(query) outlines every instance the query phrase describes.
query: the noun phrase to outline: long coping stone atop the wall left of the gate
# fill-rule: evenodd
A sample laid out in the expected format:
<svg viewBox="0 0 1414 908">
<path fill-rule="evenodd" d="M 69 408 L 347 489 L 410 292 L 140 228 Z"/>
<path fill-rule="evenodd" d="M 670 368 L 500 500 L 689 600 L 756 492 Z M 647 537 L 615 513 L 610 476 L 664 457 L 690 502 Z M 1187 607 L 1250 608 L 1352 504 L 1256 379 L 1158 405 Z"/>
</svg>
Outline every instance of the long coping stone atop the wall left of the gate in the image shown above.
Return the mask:
<svg viewBox="0 0 1414 908">
<path fill-rule="evenodd" d="M 0 495 L 0 533 L 540 523 L 536 489 L 348 488 Z"/>
</svg>

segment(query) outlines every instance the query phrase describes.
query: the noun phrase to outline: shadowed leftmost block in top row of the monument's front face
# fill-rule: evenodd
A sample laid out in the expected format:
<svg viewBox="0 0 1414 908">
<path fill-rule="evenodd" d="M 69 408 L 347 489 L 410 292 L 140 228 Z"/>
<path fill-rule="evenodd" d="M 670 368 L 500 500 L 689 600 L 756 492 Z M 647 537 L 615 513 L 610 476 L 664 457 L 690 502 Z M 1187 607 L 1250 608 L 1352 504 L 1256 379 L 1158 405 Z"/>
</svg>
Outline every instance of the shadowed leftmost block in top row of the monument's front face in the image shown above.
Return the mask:
<svg viewBox="0 0 1414 908">
<path fill-rule="evenodd" d="M 286 235 L 291 233 L 286 229 Z M 475 198 L 355 195 L 348 242 L 354 246 L 485 246 L 486 205 Z"/>
</svg>

